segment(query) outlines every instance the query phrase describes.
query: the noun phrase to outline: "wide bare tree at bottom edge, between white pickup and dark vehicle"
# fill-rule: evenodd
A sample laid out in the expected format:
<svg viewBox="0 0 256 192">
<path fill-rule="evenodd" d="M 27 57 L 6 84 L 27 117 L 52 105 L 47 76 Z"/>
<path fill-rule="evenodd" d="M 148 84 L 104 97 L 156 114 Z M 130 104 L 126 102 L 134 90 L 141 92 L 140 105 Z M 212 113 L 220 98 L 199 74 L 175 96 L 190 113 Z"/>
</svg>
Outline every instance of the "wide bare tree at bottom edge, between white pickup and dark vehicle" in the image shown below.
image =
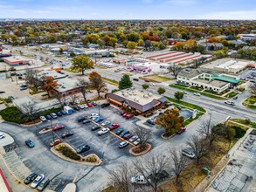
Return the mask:
<svg viewBox="0 0 256 192">
<path fill-rule="evenodd" d="M 157 191 L 158 186 L 163 182 L 163 173 L 169 167 L 167 156 L 163 154 L 153 155 L 147 159 L 137 158 L 133 161 L 136 171 L 148 179 L 149 186 Z M 169 176 L 169 175 L 165 175 Z"/>
</svg>

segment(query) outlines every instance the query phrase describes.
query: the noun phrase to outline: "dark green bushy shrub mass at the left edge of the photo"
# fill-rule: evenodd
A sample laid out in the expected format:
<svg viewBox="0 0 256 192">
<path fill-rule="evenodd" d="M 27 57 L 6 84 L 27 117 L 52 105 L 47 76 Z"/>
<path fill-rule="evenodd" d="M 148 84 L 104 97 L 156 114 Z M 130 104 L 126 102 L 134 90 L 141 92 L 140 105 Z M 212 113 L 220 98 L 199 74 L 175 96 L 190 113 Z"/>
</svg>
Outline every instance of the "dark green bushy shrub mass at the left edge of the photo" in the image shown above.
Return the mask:
<svg viewBox="0 0 256 192">
<path fill-rule="evenodd" d="M 26 118 L 22 115 L 21 111 L 16 106 L 11 106 L 0 111 L 0 115 L 3 117 L 3 120 L 23 124 L 27 121 Z"/>
</svg>

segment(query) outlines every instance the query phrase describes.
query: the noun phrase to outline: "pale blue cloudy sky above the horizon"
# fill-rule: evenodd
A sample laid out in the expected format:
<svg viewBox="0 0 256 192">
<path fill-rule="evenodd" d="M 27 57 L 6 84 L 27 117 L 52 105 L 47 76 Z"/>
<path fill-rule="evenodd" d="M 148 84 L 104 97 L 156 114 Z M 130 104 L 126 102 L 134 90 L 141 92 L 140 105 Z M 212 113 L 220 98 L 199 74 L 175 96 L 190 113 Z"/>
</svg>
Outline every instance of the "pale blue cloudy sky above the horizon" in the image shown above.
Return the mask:
<svg viewBox="0 0 256 192">
<path fill-rule="evenodd" d="M 0 18 L 256 20 L 256 0 L 0 0 Z"/>
</svg>

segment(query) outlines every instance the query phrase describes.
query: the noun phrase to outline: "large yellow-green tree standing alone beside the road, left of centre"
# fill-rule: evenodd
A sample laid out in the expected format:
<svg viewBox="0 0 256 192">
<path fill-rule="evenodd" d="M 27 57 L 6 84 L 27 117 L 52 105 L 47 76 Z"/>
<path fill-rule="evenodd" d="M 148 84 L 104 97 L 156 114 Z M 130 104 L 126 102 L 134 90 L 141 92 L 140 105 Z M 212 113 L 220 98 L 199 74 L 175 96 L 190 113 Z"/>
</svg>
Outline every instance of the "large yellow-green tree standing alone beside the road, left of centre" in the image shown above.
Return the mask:
<svg viewBox="0 0 256 192">
<path fill-rule="evenodd" d="M 73 62 L 73 64 L 71 66 L 71 69 L 73 71 L 82 72 L 82 75 L 85 74 L 84 73 L 85 70 L 93 68 L 93 61 L 89 57 L 85 57 L 85 56 L 80 55 L 76 58 L 73 58 L 72 62 Z"/>
</svg>

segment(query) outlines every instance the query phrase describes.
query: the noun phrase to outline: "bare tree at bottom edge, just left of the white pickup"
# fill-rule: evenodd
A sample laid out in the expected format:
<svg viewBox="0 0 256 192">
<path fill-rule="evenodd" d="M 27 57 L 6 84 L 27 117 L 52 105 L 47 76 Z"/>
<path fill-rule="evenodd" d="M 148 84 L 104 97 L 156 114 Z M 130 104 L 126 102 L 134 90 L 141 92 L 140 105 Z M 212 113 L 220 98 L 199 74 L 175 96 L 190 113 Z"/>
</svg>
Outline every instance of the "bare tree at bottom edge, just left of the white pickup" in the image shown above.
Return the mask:
<svg viewBox="0 0 256 192">
<path fill-rule="evenodd" d="M 114 192 L 129 192 L 129 181 L 132 176 L 131 168 L 127 162 L 122 162 L 109 173 L 109 185 L 114 187 Z"/>
</svg>

